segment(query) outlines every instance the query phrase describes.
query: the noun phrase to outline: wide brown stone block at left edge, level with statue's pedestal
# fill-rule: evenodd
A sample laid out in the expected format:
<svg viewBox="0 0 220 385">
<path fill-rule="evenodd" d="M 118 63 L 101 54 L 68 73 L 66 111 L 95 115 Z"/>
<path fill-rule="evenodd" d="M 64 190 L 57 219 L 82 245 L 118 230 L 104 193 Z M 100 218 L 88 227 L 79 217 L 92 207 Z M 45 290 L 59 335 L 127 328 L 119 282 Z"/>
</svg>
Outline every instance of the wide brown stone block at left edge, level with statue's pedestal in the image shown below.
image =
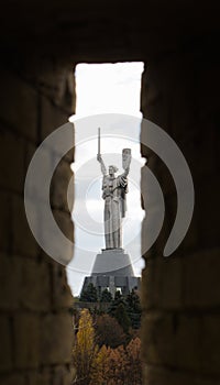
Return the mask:
<svg viewBox="0 0 220 385">
<path fill-rule="evenodd" d="M 47 263 L 1 254 L 1 309 L 15 310 L 20 307 L 33 311 L 50 309 L 51 277 Z"/>
</svg>

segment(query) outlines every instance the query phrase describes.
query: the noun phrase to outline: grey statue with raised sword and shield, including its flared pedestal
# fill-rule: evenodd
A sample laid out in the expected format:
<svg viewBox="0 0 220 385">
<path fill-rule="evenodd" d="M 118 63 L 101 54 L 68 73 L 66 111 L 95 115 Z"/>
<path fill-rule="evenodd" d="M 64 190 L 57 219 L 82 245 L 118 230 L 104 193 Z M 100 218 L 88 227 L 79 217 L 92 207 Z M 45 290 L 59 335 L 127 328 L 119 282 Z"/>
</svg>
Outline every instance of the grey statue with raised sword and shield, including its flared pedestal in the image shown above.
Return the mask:
<svg viewBox="0 0 220 385">
<path fill-rule="evenodd" d="M 130 255 L 122 248 L 122 219 L 127 211 L 128 175 L 131 164 L 131 148 L 122 150 L 122 167 L 124 172 L 118 176 L 118 168 L 103 163 L 100 152 L 100 129 L 98 129 L 98 154 L 102 173 L 102 198 L 105 199 L 103 221 L 106 249 L 95 258 L 91 275 L 85 277 L 82 290 L 89 284 L 97 288 L 98 296 L 108 289 L 112 296 L 117 290 L 128 295 L 134 288 L 140 288 L 140 277 L 133 272 Z"/>
</svg>

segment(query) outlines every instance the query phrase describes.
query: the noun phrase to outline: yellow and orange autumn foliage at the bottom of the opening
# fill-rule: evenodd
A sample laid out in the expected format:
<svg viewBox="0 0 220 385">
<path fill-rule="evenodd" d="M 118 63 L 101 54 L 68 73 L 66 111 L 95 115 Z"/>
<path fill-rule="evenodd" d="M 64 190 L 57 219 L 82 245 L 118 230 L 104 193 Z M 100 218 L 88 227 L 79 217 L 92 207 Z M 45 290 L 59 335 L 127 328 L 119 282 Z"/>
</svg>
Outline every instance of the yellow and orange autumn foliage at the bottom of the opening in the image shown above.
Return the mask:
<svg viewBox="0 0 220 385">
<path fill-rule="evenodd" d="M 110 342 L 107 346 L 101 344 L 102 342 L 99 340 L 98 345 L 92 322 L 89 310 L 81 310 L 74 349 L 76 377 L 73 385 L 141 385 L 140 338 L 135 337 L 129 343 L 123 343 L 124 333 L 122 328 L 117 324 L 114 319 L 105 315 L 98 320 L 98 323 L 103 333 L 106 332 L 105 324 L 109 328 L 103 340 L 107 338 Z M 120 345 L 117 343 L 117 339 L 113 338 L 114 330 L 118 330 L 119 341 L 122 339 Z M 111 334 L 113 342 L 109 334 Z M 118 346 L 112 348 L 116 345 Z"/>
</svg>

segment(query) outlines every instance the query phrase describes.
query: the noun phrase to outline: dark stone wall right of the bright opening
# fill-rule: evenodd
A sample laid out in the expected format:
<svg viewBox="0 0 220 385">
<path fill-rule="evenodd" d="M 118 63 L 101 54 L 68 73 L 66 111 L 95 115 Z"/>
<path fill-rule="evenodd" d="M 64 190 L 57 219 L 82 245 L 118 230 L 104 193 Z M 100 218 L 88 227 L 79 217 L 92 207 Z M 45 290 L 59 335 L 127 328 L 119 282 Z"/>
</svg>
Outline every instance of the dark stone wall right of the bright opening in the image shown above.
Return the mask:
<svg viewBox="0 0 220 385">
<path fill-rule="evenodd" d="M 177 206 L 174 182 L 156 154 L 142 146 L 166 205 L 164 227 L 145 255 L 143 271 L 144 384 L 219 384 L 219 62 L 210 52 L 206 57 L 204 51 L 177 52 L 145 64 L 142 80 L 143 114 L 176 141 L 196 194 L 188 233 L 165 258 L 163 249 Z M 142 135 L 146 135 L 144 129 Z M 147 194 L 145 167 L 143 196 Z M 144 230 L 142 237 L 147 237 Z"/>
</svg>

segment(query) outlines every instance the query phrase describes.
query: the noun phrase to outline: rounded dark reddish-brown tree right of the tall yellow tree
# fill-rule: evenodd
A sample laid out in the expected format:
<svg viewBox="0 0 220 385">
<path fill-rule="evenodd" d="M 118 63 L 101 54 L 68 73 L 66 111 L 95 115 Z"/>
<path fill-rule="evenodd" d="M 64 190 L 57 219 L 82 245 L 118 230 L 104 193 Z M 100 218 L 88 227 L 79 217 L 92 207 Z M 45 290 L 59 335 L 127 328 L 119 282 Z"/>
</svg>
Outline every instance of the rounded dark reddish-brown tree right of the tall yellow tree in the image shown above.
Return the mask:
<svg viewBox="0 0 220 385">
<path fill-rule="evenodd" d="M 125 336 L 118 321 L 108 316 L 99 316 L 96 322 L 96 342 L 99 346 L 103 344 L 110 348 L 117 348 L 125 343 Z"/>
</svg>

